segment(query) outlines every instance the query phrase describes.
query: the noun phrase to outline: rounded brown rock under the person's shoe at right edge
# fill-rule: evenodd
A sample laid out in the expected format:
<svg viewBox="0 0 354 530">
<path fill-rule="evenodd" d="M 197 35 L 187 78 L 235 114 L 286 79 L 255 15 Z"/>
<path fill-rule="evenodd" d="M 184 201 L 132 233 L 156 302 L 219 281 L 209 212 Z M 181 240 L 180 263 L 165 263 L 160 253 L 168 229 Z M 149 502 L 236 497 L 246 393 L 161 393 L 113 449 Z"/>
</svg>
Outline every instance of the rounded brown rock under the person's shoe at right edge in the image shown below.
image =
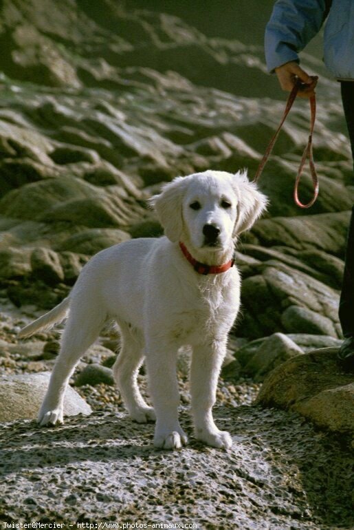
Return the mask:
<svg viewBox="0 0 354 530">
<path fill-rule="evenodd" d="M 271 372 L 256 403 L 299 412 L 320 427 L 354 435 L 354 374 L 344 373 L 338 348 L 289 359 Z"/>
</svg>

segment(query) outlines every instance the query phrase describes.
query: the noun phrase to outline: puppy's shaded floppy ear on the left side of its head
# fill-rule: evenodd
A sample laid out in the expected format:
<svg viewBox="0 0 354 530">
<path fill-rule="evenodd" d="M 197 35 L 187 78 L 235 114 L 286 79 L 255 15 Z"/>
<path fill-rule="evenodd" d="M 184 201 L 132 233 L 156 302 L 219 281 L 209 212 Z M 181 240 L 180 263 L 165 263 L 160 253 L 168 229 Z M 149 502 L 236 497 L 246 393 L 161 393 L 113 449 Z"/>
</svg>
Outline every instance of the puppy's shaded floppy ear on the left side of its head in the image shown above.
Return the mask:
<svg viewBox="0 0 354 530">
<path fill-rule="evenodd" d="M 157 213 L 165 235 L 173 243 L 179 241 L 183 230 L 182 200 L 186 187 L 186 177 L 177 177 L 162 188 L 148 202 Z"/>
</svg>

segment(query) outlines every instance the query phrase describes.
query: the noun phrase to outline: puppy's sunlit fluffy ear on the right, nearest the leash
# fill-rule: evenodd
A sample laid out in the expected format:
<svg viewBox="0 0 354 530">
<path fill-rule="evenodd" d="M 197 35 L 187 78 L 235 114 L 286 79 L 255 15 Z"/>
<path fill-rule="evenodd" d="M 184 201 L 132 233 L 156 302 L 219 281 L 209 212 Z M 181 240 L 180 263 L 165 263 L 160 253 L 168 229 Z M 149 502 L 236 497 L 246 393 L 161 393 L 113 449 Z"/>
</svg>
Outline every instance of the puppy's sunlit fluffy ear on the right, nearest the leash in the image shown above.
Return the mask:
<svg viewBox="0 0 354 530">
<path fill-rule="evenodd" d="M 233 180 L 234 191 L 237 196 L 238 215 L 234 225 L 233 236 L 249 230 L 267 208 L 267 198 L 258 191 L 254 182 L 247 178 L 247 171 L 239 171 Z"/>
</svg>

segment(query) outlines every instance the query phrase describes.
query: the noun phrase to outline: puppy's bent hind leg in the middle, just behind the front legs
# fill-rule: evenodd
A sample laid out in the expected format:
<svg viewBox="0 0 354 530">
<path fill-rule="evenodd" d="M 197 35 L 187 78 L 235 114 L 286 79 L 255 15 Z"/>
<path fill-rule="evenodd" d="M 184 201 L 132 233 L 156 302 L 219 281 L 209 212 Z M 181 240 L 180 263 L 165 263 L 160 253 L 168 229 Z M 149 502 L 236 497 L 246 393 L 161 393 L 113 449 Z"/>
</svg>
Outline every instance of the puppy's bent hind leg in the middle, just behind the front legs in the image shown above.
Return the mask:
<svg viewBox="0 0 354 530">
<path fill-rule="evenodd" d="M 137 386 L 137 374 L 144 359 L 143 339 L 138 330 L 119 324 L 122 332 L 122 348 L 113 365 L 113 375 L 124 405 L 137 423 L 155 421 L 153 407 L 149 407 Z"/>
</svg>

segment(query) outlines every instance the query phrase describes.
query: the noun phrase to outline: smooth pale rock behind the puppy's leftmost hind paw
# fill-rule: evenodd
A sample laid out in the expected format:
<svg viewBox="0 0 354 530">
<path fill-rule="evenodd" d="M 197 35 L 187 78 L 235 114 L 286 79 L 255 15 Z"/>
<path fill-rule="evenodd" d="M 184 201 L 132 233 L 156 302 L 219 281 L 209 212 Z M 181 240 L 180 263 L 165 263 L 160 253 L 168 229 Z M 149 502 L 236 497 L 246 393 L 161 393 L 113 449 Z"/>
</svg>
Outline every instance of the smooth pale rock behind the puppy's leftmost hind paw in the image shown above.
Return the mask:
<svg viewBox="0 0 354 530">
<path fill-rule="evenodd" d="M 0 385 L 0 421 L 36 418 L 49 383 L 49 373 L 2 374 Z M 64 400 L 65 416 L 90 414 L 91 407 L 71 387 Z"/>
</svg>

